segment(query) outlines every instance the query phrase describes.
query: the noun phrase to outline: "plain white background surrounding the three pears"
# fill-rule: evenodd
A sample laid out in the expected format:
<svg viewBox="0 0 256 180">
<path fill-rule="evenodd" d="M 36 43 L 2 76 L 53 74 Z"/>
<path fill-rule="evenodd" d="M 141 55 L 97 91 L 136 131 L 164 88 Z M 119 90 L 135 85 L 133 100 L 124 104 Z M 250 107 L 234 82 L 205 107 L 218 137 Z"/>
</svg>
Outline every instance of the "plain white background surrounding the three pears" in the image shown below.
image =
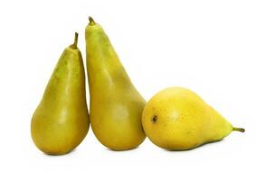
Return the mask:
<svg viewBox="0 0 256 180">
<path fill-rule="evenodd" d="M 85 57 L 89 15 L 147 100 L 185 86 L 246 132 L 184 152 L 148 139 L 114 152 L 90 130 L 70 154 L 44 155 L 33 145 L 31 117 L 74 31 Z M 0 179 L 255 179 L 255 22 L 253 0 L 1 1 Z"/>
</svg>

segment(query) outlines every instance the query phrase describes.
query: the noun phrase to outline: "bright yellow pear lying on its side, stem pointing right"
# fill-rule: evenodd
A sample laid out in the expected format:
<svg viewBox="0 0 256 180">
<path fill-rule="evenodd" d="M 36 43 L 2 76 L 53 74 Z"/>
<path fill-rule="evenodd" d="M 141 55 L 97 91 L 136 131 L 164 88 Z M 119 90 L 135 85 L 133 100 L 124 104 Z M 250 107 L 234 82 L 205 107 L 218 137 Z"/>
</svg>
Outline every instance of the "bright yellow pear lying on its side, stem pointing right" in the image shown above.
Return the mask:
<svg viewBox="0 0 256 180">
<path fill-rule="evenodd" d="M 169 87 L 154 95 L 142 115 L 147 137 L 160 148 L 186 150 L 223 139 L 234 128 L 194 92 Z"/>
</svg>

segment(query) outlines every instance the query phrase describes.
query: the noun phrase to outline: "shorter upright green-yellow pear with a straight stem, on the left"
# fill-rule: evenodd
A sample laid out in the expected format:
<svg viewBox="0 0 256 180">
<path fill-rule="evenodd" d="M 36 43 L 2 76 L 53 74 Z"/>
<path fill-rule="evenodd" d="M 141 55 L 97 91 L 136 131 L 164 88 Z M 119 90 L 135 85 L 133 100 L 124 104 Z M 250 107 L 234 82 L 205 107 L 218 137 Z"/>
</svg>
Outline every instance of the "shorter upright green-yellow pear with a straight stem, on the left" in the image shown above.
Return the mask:
<svg viewBox="0 0 256 180">
<path fill-rule="evenodd" d="M 81 51 L 74 43 L 64 49 L 31 122 L 37 148 L 62 155 L 76 148 L 89 130 L 85 73 Z"/>
</svg>

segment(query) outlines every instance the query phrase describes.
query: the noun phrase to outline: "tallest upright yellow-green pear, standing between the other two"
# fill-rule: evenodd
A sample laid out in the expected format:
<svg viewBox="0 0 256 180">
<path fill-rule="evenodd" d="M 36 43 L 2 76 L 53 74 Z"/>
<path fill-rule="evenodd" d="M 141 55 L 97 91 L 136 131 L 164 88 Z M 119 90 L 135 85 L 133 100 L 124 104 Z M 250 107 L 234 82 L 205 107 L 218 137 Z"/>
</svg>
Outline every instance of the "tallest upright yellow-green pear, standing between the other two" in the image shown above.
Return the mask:
<svg viewBox="0 0 256 180">
<path fill-rule="evenodd" d="M 85 38 L 91 128 L 107 148 L 136 148 L 145 139 L 141 114 L 146 101 L 131 83 L 106 33 L 89 19 Z"/>
</svg>

